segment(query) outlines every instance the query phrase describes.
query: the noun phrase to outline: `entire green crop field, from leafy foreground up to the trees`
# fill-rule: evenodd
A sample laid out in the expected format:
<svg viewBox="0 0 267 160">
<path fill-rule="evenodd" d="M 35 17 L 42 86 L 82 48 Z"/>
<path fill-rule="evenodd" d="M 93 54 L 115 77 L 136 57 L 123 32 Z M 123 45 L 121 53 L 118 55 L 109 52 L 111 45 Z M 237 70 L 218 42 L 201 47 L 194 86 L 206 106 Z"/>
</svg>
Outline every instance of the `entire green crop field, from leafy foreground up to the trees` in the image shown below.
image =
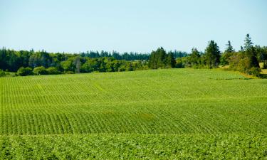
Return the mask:
<svg viewBox="0 0 267 160">
<path fill-rule="evenodd" d="M 9 77 L 0 96 L 1 159 L 267 159 L 266 79 L 190 68 Z"/>
</svg>

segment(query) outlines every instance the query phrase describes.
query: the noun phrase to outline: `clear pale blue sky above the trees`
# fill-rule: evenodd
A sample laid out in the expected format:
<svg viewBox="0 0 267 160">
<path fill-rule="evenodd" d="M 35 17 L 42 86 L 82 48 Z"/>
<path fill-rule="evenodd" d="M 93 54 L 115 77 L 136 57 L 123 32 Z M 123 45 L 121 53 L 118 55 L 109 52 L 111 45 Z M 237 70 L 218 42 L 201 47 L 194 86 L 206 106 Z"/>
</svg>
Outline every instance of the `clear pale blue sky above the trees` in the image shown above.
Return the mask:
<svg viewBox="0 0 267 160">
<path fill-rule="evenodd" d="M 0 47 L 79 53 L 267 46 L 266 0 L 0 0 Z"/>
</svg>

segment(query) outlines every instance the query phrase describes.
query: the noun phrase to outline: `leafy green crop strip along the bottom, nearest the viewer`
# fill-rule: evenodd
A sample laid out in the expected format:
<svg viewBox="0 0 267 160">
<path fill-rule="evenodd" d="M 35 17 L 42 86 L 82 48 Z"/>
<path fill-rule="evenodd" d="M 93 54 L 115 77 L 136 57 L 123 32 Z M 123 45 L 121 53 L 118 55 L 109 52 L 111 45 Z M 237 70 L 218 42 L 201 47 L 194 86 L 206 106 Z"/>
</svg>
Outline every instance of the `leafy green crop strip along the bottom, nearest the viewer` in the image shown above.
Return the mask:
<svg viewBox="0 0 267 160">
<path fill-rule="evenodd" d="M 0 136 L 0 159 L 265 159 L 266 134 Z"/>
</svg>

